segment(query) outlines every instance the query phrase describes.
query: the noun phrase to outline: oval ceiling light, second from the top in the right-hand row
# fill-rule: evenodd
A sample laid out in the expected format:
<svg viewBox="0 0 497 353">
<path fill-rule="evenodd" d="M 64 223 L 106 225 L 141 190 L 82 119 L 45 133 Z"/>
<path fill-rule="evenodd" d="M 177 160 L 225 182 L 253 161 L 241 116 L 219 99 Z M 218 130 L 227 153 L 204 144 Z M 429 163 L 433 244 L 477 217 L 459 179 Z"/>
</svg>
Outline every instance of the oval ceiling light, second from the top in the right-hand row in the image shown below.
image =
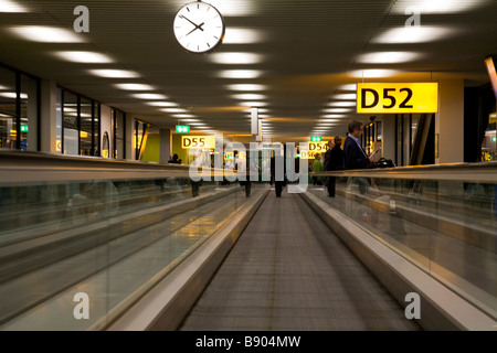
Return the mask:
<svg viewBox="0 0 497 353">
<path fill-rule="evenodd" d="M 447 26 L 419 25 L 419 26 L 400 26 L 388 30 L 377 38 L 372 39 L 372 43 L 385 44 L 412 44 L 434 42 L 457 33 L 457 29 Z"/>
</svg>

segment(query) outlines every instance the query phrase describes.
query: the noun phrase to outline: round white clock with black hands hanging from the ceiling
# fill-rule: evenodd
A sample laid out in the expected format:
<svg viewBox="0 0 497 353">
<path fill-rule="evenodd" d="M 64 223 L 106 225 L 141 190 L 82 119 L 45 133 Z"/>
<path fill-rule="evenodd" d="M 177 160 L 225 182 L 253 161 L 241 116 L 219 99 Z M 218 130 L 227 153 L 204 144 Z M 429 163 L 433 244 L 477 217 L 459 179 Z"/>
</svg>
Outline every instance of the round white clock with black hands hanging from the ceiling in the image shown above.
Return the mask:
<svg viewBox="0 0 497 353">
<path fill-rule="evenodd" d="M 175 35 L 189 52 L 207 53 L 224 36 L 224 21 L 211 4 L 201 1 L 182 7 L 175 18 Z"/>
</svg>

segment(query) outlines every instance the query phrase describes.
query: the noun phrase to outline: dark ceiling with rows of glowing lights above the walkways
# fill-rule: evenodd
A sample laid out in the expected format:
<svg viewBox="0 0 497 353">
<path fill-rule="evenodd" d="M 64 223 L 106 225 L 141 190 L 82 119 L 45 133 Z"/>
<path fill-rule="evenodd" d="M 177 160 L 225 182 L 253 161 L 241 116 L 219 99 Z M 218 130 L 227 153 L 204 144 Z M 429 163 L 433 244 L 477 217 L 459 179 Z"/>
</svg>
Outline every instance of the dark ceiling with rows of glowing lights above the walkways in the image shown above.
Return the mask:
<svg viewBox="0 0 497 353">
<path fill-rule="evenodd" d="M 180 124 L 192 131 L 248 136 L 250 107 L 257 106 L 263 136 L 286 142 L 342 135 L 352 118 L 369 121 L 355 113 L 356 83 L 485 84 L 484 58 L 497 53 L 495 0 L 209 0 L 222 13 L 226 33 L 208 54 L 187 53 L 173 36 L 175 14 L 188 2 L 0 0 L 0 63 L 159 128 Z M 89 10 L 89 32 L 73 30 L 78 4 Z M 21 26 L 34 25 L 64 29 L 74 39 L 34 41 L 20 34 Z M 56 54 L 74 51 L 103 54 L 106 62 L 71 62 Z M 228 53 L 246 55 L 226 60 Z M 102 68 L 135 77 L 89 72 Z M 251 71 L 253 77 L 226 78 L 226 71 Z M 129 90 L 117 84 L 148 86 Z"/>
</svg>

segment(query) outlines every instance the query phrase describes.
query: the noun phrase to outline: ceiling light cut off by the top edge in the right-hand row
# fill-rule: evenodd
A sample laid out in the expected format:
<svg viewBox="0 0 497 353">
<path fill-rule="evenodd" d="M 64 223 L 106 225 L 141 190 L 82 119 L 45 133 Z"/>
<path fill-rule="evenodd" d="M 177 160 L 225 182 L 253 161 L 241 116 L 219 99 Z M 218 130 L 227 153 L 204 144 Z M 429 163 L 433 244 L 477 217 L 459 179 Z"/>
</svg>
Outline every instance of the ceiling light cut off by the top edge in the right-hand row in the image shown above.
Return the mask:
<svg viewBox="0 0 497 353">
<path fill-rule="evenodd" d="M 465 12 L 487 3 L 487 0 L 412 0 L 398 1 L 394 13 L 410 14 L 410 9 L 416 9 L 420 14 Z"/>
</svg>

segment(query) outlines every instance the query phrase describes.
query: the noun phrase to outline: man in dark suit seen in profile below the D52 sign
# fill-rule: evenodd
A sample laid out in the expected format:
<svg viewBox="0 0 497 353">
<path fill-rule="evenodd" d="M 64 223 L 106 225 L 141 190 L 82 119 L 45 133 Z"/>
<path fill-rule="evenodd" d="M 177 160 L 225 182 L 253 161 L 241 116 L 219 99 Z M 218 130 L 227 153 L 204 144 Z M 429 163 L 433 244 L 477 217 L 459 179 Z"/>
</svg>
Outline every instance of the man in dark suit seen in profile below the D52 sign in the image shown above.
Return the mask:
<svg viewBox="0 0 497 353">
<path fill-rule="evenodd" d="M 359 139 L 362 135 L 362 122 L 352 120 L 348 126 L 349 135 L 343 143 L 345 169 L 364 169 L 372 163 L 372 156 L 366 154 Z M 364 178 L 356 178 L 352 182 L 358 182 L 361 194 L 366 193 L 369 182 Z"/>
</svg>

